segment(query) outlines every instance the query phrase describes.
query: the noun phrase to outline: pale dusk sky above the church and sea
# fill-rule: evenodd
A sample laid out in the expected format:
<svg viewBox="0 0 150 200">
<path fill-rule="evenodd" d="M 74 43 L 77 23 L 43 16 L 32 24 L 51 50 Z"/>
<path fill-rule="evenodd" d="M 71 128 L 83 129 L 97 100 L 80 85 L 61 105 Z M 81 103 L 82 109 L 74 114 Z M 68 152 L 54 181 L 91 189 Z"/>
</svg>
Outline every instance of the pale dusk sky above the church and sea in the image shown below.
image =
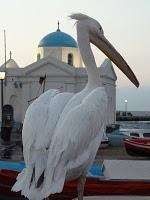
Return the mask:
<svg viewBox="0 0 150 200">
<path fill-rule="evenodd" d="M 97 19 L 107 39 L 122 54 L 136 74 L 140 87 L 134 85 L 114 65 L 118 80 L 117 109 L 150 111 L 150 0 L 0 0 L 0 64 L 4 62 L 3 30 L 9 51 L 20 67 L 33 62 L 39 41 L 60 29 L 76 39 L 74 21 L 67 16 L 81 12 Z M 95 47 L 99 66 L 105 55 Z"/>
</svg>

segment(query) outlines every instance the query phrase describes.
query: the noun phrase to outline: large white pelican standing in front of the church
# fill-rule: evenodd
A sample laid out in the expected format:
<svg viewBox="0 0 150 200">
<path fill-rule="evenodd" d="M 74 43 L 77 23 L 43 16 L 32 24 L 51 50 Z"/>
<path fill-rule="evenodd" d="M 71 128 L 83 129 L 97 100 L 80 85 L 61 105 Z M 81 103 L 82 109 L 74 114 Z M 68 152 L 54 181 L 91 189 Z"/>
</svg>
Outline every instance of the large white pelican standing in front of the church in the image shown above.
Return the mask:
<svg viewBox="0 0 150 200">
<path fill-rule="evenodd" d="M 134 73 L 105 38 L 95 19 L 80 13 L 70 18 L 77 20 L 77 41 L 88 82 L 77 94 L 48 90 L 27 109 L 22 131 L 26 167 L 12 190 L 21 191 L 30 200 L 60 193 L 65 181 L 74 179 L 78 180 L 78 199 L 83 200 L 86 174 L 102 139 L 108 106 L 90 42 L 139 86 Z"/>
</svg>

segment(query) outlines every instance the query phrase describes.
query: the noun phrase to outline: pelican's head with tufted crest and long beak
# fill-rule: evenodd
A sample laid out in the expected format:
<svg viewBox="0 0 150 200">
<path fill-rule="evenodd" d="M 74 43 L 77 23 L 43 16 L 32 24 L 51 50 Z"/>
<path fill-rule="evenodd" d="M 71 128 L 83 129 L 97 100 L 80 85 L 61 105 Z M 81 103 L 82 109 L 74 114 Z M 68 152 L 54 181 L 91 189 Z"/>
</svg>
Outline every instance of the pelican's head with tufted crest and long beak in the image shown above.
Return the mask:
<svg viewBox="0 0 150 200">
<path fill-rule="evenodd" d="M 97 46 L 129 78 L 129 80 L 136 87 L 139 87 L 139 82 L 133 71 L 120 55 L 120 53 L 105 38 L 104 31 L 99 22 L 81 13 L 72 14 L 70 15 L 70 18 L 78 20 L 77 25 L 82 26 L 88 31 L 90 42 Z"/>
</svg>

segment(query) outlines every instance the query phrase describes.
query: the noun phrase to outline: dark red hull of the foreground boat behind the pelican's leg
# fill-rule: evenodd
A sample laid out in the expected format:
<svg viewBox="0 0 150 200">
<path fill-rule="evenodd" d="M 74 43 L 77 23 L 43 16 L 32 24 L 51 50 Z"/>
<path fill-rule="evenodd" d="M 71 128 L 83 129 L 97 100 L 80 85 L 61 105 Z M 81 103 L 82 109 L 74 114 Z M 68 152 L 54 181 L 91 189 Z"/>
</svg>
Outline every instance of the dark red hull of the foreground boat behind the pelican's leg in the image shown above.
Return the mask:
<svg viewBox="0 0 150 200">
<path fill-rule="evenodd" d="M 21 198 L 20 193 L 11 191 L 16 181 L 18 172 L 0 170 L 0 194 L 7 197 Z M 49 197 L 49 200 L 71 200 L 77 197 L 77 181 L 65 183 L 62 193 Z M 88 177 L 85 185 L 84 196 L 101 195 L 150 195 L 150 180 L 101 180 Z M 23 199 L 23 197 L 21 198 Z"/>
</svg>

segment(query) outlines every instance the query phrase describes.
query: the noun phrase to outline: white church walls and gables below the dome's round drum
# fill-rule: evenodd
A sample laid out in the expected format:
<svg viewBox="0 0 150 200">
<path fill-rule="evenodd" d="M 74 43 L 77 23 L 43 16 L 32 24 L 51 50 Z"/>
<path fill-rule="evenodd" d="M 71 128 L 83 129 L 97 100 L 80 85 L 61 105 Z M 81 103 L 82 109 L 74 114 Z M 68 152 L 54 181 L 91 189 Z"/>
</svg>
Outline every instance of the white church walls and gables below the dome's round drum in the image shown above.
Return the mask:
<svg viewBox="0 0 150 200">
<path fill-rule="evenodd" d="M 99 70 L 109 100 L 107 124 L 112 124 L 115 123 L 116 111 L 116 75 L 110 62 L 106 60 L 104 64 Z M 74 68 L 52 57 L 46 57 L 22 69 L 9 69 L 7 86 L 4 87 L 4 104 L 14 107 L 16 121 L 24 120 L 28 106 L 42 94 L 43 87 L 39 84 L 39 79 L 45 74 L 45 91 L 59 89 L 61 92 L 76 93 L 85 87 L 88 79 L 85 68 Z"/>
</svg>

